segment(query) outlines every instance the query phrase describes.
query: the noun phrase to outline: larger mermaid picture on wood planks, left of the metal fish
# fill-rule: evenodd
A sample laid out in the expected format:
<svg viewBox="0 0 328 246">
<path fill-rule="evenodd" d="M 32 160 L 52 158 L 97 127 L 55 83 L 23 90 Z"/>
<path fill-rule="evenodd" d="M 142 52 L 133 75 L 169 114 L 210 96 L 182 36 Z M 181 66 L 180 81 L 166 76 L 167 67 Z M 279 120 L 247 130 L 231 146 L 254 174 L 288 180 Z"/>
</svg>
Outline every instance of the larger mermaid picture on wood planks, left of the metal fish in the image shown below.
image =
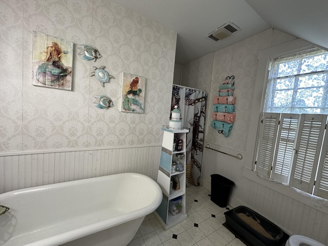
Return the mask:
<svg viewBox="0 0 328 246">
<path fill-rule="evenodd" d="M 32 84 L 72 90 L 73 43 L 33 31 Z"/>
</svg>

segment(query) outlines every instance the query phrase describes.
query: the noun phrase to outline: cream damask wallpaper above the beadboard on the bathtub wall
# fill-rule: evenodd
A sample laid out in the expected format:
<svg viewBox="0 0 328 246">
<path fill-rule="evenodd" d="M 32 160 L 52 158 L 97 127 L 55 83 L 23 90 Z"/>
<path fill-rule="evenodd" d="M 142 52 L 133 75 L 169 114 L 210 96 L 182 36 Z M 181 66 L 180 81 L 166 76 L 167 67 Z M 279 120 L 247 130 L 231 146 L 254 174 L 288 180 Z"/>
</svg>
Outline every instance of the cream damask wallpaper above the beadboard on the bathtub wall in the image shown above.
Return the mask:
<svg viewBox="0 0 328 246">
<path fill-rule="evenodd" d="M 0 23 L 0 153 L 161 144 L 176 33 L 108 0 L 2 0 Z M 32 85 L 33 31 L 74 43 L 72 91 Z M 80 59 L 80 44 L 103 57 Z M 115 79 L 101 87 L 92 66 Z M 120 112 L 122 72 L 147 78 L 144 114 Z M 115 107 L 96 108 L 99 94 Z"/>
</svg>

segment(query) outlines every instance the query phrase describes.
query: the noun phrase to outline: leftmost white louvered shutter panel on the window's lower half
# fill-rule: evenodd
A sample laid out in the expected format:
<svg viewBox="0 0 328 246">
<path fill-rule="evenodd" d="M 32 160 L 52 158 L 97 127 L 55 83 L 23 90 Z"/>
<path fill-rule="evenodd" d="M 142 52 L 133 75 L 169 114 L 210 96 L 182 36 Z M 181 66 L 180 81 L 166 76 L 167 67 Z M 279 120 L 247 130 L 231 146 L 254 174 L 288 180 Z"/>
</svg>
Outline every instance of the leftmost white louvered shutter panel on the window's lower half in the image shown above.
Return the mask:
<svg viewBox="0 0 328 246">
<path fill-rule="evenodd" d="M 270 177 L 280 113 L 264 113 L 255 171 Z"/>
</svg>

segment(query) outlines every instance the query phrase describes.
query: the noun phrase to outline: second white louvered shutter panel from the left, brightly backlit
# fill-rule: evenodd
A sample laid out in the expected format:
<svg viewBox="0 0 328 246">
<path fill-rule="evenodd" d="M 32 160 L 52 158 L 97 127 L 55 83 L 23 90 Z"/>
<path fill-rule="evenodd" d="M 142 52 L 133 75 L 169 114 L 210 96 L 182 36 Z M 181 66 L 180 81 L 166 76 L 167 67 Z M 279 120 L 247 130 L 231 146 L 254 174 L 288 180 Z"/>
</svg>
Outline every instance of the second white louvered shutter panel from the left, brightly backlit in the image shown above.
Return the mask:
<svg viewBox="0 0 328 246">
<path fill-rule="evenodd" d="M 289 182 L 299 118 L 299 114 L 281 114 L 280 117 L 271 177 L 284 183 Z"/>
</svg>

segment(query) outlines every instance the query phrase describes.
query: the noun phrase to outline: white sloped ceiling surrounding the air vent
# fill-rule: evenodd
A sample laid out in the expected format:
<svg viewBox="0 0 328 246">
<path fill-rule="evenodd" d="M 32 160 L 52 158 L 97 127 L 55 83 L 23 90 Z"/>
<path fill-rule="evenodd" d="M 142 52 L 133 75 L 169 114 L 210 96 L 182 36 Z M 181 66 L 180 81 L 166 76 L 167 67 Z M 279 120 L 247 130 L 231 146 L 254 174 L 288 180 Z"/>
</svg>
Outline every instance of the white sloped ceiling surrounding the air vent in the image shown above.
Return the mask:
<svg viewBox="0 0 328 246">
<path fill-rule="evenodd" d="M 269 28 L 328 48 L 327 0 L 113 0 L 177 33 L 176 63 L 220 50 Z M 232 22 L 240 31 L 206 37 Z"/>
</svg>

